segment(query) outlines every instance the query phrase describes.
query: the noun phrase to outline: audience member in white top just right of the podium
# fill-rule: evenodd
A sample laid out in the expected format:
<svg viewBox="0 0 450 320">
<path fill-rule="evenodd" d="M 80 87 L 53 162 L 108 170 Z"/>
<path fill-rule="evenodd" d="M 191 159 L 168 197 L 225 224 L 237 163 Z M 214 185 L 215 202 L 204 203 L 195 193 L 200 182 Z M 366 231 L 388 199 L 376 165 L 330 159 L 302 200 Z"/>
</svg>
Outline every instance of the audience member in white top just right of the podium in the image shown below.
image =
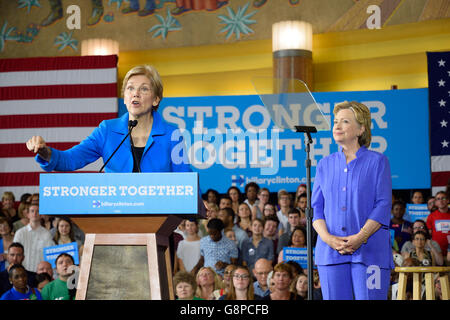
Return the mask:
<svg viewBox="0 0 450 320">
<path fill-rule="evenodd" d="M 177 260 L 180 271 L 191 272 L 200 260 L 200 237 L 198 222 L 195 219 L 186 220 L 186 237 L 178 243 Z"/>
</svg>

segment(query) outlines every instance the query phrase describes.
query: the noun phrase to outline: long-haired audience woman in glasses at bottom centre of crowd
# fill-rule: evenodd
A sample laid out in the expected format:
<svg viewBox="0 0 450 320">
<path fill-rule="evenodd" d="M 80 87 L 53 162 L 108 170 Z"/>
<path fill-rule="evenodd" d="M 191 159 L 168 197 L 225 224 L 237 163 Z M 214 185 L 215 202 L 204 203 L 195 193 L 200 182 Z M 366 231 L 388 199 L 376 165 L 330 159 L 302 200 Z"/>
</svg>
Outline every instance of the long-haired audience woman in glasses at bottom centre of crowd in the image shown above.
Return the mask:
<svg viewBox="0 0 450 320">
<path fill-rule="evenodd" d="M 237 266 L 231 275 L 230 289 L 219 300 L 255 300 L 260 297 L 253 292 L 253 281 L 250 270 L 244 266 Z"/>
</svg>

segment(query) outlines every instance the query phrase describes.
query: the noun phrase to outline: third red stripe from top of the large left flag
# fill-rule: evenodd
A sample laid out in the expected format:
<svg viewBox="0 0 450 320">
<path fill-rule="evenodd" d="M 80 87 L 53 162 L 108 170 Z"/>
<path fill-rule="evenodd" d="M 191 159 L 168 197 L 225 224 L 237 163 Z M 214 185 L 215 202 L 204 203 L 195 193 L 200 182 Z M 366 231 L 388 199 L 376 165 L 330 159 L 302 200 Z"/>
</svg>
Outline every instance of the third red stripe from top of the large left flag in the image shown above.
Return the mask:
<svg viewBox="0 0 450 320">
<path fill-rule="evenodd" d="M 115 112 L 7 115 L 0 116 L 0 129 L 97 127 L 103 120 L 116 117 Z"/>
</svg>

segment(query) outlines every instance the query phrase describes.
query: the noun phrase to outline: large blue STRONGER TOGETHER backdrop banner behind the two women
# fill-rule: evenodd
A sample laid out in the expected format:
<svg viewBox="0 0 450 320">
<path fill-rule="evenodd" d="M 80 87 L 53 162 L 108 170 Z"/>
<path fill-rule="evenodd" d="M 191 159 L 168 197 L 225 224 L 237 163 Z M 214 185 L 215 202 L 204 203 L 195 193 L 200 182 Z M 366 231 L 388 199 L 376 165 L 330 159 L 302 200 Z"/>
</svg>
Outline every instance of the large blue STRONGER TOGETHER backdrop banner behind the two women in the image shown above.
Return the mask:
<svg viewBox="0 0 450 320">
<path fill-rule="evenodd" d="M 372 114 L 371 149 L 389 158 L 393 188 L 430 188 L 428 89 L 313 95 L 330 124 L 337 103 L 354 100 L 367 105 Z M 277 116 L 291 123 L 298 121 L 299 115 L 313 120 L 317 114 L 307 109 L 291 104 Z M 120 99 L 119 115 L 124 112 Z M 232 185 L 242 191 L 254 181 L 271 192 L 293 192 L 306 182 L 303 134 L 274 127 L 271 113 L 258 95 L 164 98 L 158 112 L 181 129 L 203 191 L 213 188 L 224 193 Z M 331 130 L 313 134 L 313 141 L 314 183 L 317 162 L 336 152 L 337 145 Z"/>
</svg>

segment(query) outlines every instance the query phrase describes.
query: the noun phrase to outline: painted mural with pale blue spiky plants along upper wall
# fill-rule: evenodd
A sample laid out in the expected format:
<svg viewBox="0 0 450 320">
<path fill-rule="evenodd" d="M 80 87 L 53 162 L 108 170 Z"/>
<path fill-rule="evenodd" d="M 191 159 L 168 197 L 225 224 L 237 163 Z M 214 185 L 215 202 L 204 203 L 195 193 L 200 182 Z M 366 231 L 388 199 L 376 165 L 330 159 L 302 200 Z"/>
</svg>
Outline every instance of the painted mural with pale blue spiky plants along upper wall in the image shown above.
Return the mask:
<svg viewBox="0 0 450 320">
<path fill-rule="evenodd" d="M 444 18 L 436 0 L 0 0 L 0 57 L 78 55 L 89 38 L 121 51 L 269 39 L 280 20 L 325 33 Z"/>
</svg>

